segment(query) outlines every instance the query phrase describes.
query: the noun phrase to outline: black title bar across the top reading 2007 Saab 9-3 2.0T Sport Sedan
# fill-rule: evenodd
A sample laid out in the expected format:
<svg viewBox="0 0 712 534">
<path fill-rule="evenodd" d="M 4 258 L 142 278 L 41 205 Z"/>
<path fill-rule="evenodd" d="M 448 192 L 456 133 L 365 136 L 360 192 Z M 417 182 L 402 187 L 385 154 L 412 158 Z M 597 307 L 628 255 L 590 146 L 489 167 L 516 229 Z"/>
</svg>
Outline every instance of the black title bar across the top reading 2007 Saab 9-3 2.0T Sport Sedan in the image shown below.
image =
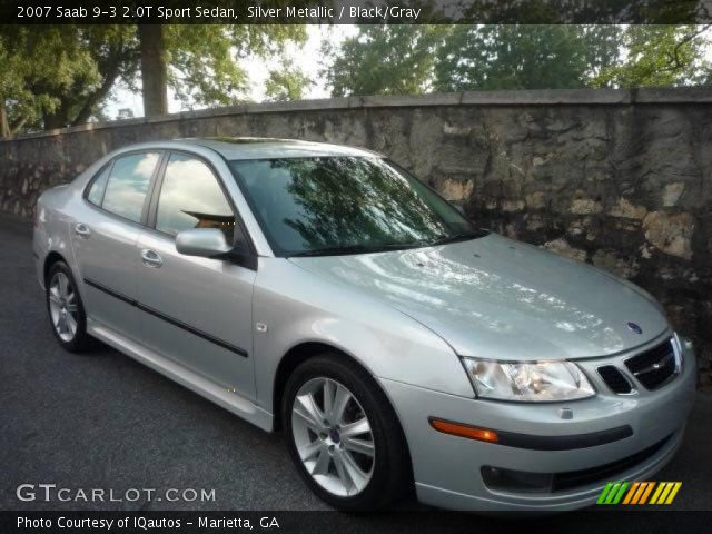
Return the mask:
<svg viewBox="0 0 712 534">
<path fill-rule="evenodd" d="M 704 24 L 712 0 L 0 0 L 2 24 Z"/>
</svg>

